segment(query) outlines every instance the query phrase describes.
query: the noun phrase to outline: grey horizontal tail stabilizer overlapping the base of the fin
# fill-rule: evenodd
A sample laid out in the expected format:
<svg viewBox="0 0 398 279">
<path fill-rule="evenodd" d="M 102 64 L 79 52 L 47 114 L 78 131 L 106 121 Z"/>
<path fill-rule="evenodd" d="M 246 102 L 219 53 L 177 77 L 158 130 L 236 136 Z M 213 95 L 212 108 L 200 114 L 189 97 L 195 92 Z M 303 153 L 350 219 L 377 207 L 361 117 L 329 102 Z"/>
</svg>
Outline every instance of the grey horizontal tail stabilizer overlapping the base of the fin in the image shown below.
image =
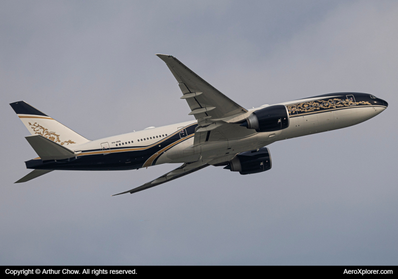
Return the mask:
<svg viewBox="0 0 398 279">
<path fill-rule="evenodd" d="M 74 152 L 64 146 L 54 143 L 42 135 L 25 137 L 37 155 L 43 160 L 60 160 L 77 156 L 81 152 Z"/>
</svg>

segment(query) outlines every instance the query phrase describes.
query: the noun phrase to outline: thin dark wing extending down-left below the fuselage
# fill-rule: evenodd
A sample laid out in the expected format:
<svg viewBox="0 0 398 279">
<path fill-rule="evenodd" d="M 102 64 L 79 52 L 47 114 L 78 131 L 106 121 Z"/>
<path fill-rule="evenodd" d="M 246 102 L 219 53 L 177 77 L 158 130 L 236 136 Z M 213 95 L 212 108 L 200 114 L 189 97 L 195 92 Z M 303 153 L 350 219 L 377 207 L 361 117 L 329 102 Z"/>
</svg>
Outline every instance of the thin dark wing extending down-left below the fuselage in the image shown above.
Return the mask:
<svg viewBox="0 0 398 279">
<path fill-rule="evenodd" d="M 161 177 L 159 177 L 159 178 L 157 178 L 155 180 L 152 180 L 152 181 L 150 181 L 148 183 L 145 183 L 144 185 L 141 185 L 141 186 L 139 186 L 137 188 L 131 189 L 131 190 L 123 192 L 123 193 L 118 193 L 118 194 L 115 194 L 115 195 L 112 195 L 112 196 L 117 196 L 117 195 L 122 195 L 122 194 L 127 194 L 127 193 L 130 193 L 130 194 L 137 193 L 139 191 L 146 190 L 146 189 L 155 187 L 157 185 L 161 185 L 163 183 L 175 180 L 177 178 L 189 175 L 189 173 L 192 173 L 192 172 L 194 172 L 196 170 L 200 170 L 200 169 L 205 168 L 207 166 L 209 166 L 209 164 L 204 163 L 204 161 L 197 161 L 197 162 L 194 162 L 194 163 L 185 163 L 182 166 L 180 166 L 180 167 L 178 167 L 178 168 L 166 173 L 166 175 L 163 175 L 163 176 L 161 176 Z"/>
</svg>

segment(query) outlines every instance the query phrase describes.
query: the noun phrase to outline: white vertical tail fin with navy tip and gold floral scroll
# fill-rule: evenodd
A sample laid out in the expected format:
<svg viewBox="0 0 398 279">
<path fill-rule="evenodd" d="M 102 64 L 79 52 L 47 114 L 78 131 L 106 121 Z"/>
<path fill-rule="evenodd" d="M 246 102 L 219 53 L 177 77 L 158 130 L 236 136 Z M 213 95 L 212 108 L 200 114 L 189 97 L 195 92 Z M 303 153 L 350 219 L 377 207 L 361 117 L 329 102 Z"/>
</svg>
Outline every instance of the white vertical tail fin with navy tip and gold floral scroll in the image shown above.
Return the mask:
<svg viewBox="0 0 398 279">
<path fill-rule="evenodd" d="M 42 135 L 50 141 L 68 146 L 68 148 L 90 142 L 84 136 L 79 135 L 24 101 L 10 103 L 10 106 L 32 135 Z"/>
</svg>

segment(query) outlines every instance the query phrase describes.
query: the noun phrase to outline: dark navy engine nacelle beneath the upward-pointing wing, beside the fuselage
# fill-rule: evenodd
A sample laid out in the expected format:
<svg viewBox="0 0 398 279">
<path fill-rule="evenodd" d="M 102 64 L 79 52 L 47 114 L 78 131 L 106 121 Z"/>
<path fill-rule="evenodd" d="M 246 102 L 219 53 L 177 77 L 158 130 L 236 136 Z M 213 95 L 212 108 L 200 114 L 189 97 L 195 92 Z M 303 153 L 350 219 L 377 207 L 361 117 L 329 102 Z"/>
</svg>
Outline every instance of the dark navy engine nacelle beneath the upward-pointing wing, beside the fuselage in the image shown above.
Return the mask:
<svg viewBox="0 0 398 279">
<path fill-rule="evenodd" d="M 283 104 L 266 107 L 252 113 L 242 124 L 257 132 L 274 132 L 289 127 L 289 114 Z"/>
</svg>

